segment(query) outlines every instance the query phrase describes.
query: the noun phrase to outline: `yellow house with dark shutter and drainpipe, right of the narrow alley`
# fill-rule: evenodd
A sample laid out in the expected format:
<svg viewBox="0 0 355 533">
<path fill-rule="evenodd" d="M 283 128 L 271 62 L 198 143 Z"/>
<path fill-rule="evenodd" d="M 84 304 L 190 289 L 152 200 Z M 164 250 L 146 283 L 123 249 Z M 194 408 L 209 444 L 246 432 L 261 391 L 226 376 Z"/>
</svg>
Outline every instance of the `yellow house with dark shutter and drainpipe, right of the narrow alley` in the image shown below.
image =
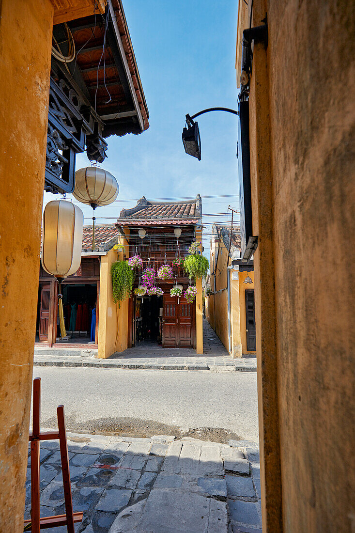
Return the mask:
<svg viewBox="0 0 355 533">
<path fill-rule="evenodd" d="M 213 225 L 206 318 L 232 357 L 256 353 L 254 266 L 240 259 L 240 230 Z"/>
</svg>

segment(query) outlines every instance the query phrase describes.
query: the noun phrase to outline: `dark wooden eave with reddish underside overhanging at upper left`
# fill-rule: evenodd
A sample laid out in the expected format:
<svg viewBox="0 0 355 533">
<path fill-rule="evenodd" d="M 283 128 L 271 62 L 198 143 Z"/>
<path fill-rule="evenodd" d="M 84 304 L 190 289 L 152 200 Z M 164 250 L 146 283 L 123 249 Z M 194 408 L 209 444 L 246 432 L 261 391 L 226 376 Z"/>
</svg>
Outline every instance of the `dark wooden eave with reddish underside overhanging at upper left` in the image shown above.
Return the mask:
<svg viewBox="0 0 355 533">
<path fill-rule="evenodd" d="M 149 127 L 149 112 L 136 64 L 131 37 L 120 0 L 107 13 L 97 12 L 68 22 L 76 47 L 74 61 L 53 61 L 55 70 L 75 83 L 100 119 L 103 137 L 139 134 Z M 63 26 L 53 28 L 58 42 L 66 46 Z M 82 49 L 82 50 L 80 50 Z M 65 49 L 63 49 L 65 53 Z M 52 70 L 53 70 L 52 62 Z"/>
</svg>

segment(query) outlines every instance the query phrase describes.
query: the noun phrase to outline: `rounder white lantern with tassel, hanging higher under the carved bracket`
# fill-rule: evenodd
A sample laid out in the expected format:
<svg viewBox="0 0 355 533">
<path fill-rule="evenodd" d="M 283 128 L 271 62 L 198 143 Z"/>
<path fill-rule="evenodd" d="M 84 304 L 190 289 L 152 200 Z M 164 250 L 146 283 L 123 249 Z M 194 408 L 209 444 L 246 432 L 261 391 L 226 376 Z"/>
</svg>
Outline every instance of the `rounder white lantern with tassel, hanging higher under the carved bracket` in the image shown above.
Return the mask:
<svg viewBox="0 0 355 533">
<path fill-rule="evenodd" d="M 103 168 L 80 168 L 75 173 L 73 196 L 93 209 L 112 204 L 119 191 L 115 176 Z"/>
</svg>

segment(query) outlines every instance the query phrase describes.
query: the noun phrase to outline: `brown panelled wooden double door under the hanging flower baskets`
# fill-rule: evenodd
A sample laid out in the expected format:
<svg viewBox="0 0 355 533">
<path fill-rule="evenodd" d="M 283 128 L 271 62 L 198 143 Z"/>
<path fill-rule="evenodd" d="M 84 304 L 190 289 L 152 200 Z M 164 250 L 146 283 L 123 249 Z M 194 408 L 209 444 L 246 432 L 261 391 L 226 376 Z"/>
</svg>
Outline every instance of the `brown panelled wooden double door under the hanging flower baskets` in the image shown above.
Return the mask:
<svg viewBox="0 0 355 533">
<path fill-rule="evenodd" d="M 163 296 L 163 348 L 195 348 L 196 305 L 185 298 Z"/>
</svg>

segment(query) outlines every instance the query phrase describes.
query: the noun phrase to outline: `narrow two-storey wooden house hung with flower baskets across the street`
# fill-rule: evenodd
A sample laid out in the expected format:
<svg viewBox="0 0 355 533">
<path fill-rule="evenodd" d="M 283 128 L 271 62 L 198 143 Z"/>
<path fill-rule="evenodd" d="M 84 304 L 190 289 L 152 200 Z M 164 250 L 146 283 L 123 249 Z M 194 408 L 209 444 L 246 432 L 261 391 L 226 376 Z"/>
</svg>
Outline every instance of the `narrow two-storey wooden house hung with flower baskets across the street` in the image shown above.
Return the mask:
<svg viewBox="0 0 355 533">
<path fill-rule="evenodd" d="M 143 269 L 150 267 L 157 273 L 164 263 L 172 265 L 176 257 L 184 259 L 192 241 L 201 241 L 201 216 L 200 195 L 194 201 L 182 202 L 148 201 L 143 196 L 132 209 L 122 209 L 116 227 L 129 249 L 129 256 L 139 254 Z M 182 285 L 183 294 L 190 284 L 181 267 L 173 266 L 173 273 L 173 279 L 156 280 L 163 290 L 161 296 L 133 294 L 130 298 L 128 348 L 150 342 L 162 344 L 163 348 L 195 348 L 202 352 L 201 280 L 197 280 L 196 302 L 189 303 L 183 295 L 179 298 L 170 295 L 174 283 Z M 135 288 L 139 282 L 138 274 Z"/>
</svg>

